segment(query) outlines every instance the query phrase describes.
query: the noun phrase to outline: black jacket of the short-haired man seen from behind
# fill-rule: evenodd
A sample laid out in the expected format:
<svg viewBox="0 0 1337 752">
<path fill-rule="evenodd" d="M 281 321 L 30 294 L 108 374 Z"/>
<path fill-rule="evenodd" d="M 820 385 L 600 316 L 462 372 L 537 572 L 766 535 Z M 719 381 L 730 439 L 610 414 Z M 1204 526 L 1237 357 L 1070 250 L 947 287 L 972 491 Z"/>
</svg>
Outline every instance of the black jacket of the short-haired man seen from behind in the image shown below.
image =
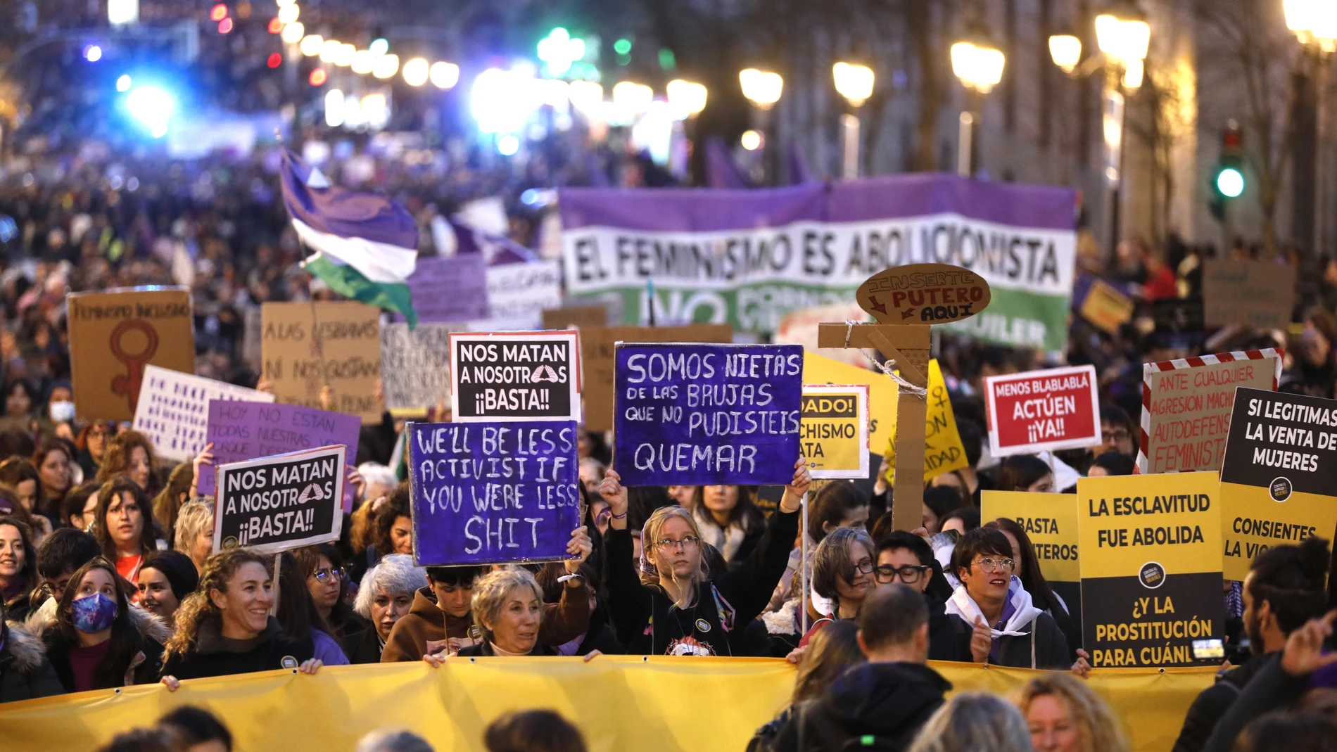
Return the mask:
<svg viewBox="0 0 1337 752">
<path fill-rule="evenodd" d="M 900 752 L 910 745 L 952 684 L 921 664 L 854 667 L 822 692 L 800 703 L 779 731 L 777 752 L 834 752 L 850 740 L 860 748 Z"/>
</svg>

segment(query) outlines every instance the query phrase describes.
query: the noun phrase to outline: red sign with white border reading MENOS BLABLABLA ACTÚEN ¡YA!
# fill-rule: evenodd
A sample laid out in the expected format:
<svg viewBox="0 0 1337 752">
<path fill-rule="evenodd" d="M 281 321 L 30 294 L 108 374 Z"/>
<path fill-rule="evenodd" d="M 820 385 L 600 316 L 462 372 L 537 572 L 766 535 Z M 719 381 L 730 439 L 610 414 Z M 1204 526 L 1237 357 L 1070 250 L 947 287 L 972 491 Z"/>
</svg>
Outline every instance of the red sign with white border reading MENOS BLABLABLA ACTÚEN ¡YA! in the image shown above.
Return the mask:
<svg viewBox="0 0 1337 752">
<path fill-rule="evenodd" d="M 984 391 L 993 457 L 1100 443 L 1095 366 L 988 377 Z"/>
</svg>

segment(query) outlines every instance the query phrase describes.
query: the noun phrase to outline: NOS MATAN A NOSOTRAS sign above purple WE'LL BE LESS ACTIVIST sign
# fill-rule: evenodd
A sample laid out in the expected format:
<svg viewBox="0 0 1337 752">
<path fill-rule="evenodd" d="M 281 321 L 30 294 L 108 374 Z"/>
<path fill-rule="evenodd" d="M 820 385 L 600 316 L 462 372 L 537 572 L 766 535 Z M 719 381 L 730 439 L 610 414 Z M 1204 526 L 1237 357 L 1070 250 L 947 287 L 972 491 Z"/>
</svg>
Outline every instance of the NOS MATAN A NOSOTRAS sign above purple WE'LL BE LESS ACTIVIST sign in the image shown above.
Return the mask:
<svg viewBox="0 0 1337 752">
<path fill-rule="evenodd" d="M 449 335 L 453 421 L 579 421 L 575 331 Z"/>
</svg>

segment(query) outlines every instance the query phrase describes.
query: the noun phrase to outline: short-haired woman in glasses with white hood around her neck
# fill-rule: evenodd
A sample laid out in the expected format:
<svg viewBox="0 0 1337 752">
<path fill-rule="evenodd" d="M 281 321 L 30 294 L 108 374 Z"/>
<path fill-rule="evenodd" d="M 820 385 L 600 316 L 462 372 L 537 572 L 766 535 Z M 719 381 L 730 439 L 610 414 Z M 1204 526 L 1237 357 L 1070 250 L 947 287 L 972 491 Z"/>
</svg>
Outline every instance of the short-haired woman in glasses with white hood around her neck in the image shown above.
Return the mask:
<svg viewBox="0 0 1337 752">
<path fill-rule="evenodd" d="M 1068 641 L 1054 617 L 1035 608 L 1015 574 L 1016 560 L 1007 536 L 976 528 L 956 542 L 952 570 L 961 585 L 947 602 L 975 628 L 988 628 L 987 661 L 1012 668 L 1067 669 Z"/>
</svg>

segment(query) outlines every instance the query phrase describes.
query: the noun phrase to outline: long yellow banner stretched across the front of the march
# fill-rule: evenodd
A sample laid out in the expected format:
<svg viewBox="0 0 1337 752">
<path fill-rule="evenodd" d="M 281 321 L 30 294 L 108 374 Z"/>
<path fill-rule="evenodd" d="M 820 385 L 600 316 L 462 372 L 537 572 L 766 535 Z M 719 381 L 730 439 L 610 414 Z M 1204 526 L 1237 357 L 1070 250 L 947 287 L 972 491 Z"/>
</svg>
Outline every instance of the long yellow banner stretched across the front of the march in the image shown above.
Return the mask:
<svg viewBox="0 0 1337 752">
<path fill-rule="evenodd" d="M 1008 695 L 1042 672 L 933 663 L 956 692 Z M 1210 669 L 1095 671 L 1090 687 L 1123 721 L 1136 752 L 1169 749 Z M 94 752 L 179 705 L 217 713 L 246 752 L 352 749 L 377 728 L 424 736 L 437 752 L 483 749 L 496 716 L 551 708 L 584 732 L 591 752 L 743 749 L 785 707 L 794 668 L 778 659 L 604 656 L 452 660 L 271 671 L 163 687 L 83 692 L 0 705 L 5 752 Z M 1136 720 L 1136 723 L 1132 723 Z"/>
</svg>

